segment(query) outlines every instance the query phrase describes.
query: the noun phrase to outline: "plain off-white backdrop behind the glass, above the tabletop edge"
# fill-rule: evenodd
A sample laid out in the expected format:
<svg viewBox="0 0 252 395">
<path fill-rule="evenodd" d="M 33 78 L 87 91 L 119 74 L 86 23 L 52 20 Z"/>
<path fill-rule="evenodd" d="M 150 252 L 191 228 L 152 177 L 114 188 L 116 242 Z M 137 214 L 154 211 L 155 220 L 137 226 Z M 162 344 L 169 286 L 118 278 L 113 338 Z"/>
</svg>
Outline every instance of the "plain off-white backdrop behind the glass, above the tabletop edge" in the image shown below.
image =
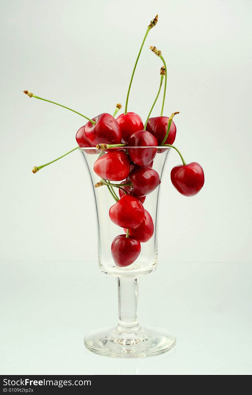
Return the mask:
<svg viewBox="0 0 252 395">
<path fill-rule="evenodd" d="M 162 66 L 148 48 L 155 45 L 168 68 L 164 113 L 181 111 L 175 145 L 205 171 L 203 190 L 181 196 L 169 178 L 180 163 L 171 153 L 160 201 L 159 259 L 250 263 L 251 9 L 243 0 L 2 2 L 2 260 L 96 261 L 94 203 L 81 154 L 31 172 L 75 147 L 85 120 L 22 91 L 88 117 L 113 113 L 117 102 L 125 103 L 146 27 L 158 13 L 128 110 L 143 120 L 149 112 Z"/>
</svg>

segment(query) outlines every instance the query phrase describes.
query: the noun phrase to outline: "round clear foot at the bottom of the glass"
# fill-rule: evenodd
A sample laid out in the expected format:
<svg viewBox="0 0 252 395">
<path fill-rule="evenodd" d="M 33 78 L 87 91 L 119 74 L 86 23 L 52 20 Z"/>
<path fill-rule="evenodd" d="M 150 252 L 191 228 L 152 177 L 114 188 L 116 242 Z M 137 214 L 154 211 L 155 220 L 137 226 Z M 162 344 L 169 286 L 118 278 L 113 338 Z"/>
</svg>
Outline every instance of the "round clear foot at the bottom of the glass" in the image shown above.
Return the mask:
<svg viewBox="0 0 252 395">
<path fill-rule="evenodd" d="M 144 358 L 171 350 L 176 338 L 161 328 L 117 325 L 88 332 L 84 344 L 88 350 L 107 357 Z"/>
</svg>

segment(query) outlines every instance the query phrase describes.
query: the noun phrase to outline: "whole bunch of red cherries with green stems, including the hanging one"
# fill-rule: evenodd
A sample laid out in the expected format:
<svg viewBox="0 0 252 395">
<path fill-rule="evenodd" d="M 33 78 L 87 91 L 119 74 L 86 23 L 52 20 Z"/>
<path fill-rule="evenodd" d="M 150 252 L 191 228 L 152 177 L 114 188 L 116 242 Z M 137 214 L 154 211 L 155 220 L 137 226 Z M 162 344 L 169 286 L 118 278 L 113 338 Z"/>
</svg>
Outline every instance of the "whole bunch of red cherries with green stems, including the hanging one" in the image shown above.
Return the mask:
<svg viewBox="0 0 252 395">
<path fill-rule="evenodd" d="M 143 43 L 145 42 L 149 30 L 156 25 L 157 21 L 158 16 L 150 22 Z M 141 49 L 142 47 L 143 44 Z M 150 48 L 157 56 L 162 58 L 161 51 L 158 51 L 156 47 Z M 135 66 L 139 55 L 135 62 Z M 162 60 L 164 61 L 164 58 L 162 58 Z M 165 69 L 166 65 L 160 70 L 161 82 L 158 95 L 164 76 L 166 87 L 167 77 Z M 130 87 L 134 71 L 132 73 Z M 181 156 L 183 164 L 173 167 L 171 170 L 171 182 L 182 195 L 194 196 L 201 190 L 204 184 L 202 167 L 196 162 L 186 164 L 179 150 L 173 146 L 177 132 L 173 117 L 177 113 L 173 113 L 171 117 L 164 117 L 162 113 L 159 117 L 148 117 L 144 125 L 139 115 L 127 111 L 130 87 L 124 114 L 119 115 L 117 119 L 115 119 L 115 114 L 121 108 L 120 104 L 117 105 L 114 115 L 102 113 L 93 119 L 89 119 L 69 107 L 42 99 L 28 90 L 24 91 L 29 97 L 60 105 L 88 120 L 87 124 L 77 131 L 76 141 L 78 147 L 75 149 L 79 147 L 84 150 L 85 148 L 89 148 L 85 150 L 86 153 L 99 154 L 99 158 L 94 162 L 94 172 L 100 177 L 101 181 L 95 186 L 107 185 L 111 195 L 116 201 L 109 209 L 109 217 L 114 224 L 123 228 L 126 233 L 116 236 L 111 245 L 113 260 L 116 265 L 120 267 L 131 265 L 141 252 L 141 243 L 149 241 L 154 233 L 153 220 L 149 212 L 143 207 L 143 203 L 146 196 L 154 191 L 160 184 L 160 177 L 152 168 L 156 154 L 164 152 L 167 150 L 167 147 L 172 147 L 177 150 Z M 156 103 L 158 95 L 154 104 Z M 162 111 L 163 107 L 164 100 Z M 65 155 L 62 155 L 60 158 Z M 34 167 L 32 169 L 33 173 L 37 173 L 39 169 L 48 164 Z M 115 184 L 111 183 L 111 181 L 121 182 L 120 184 Z M 119 198 L 113 190 L 114 187 L 118 188 Z"/>
</svg>

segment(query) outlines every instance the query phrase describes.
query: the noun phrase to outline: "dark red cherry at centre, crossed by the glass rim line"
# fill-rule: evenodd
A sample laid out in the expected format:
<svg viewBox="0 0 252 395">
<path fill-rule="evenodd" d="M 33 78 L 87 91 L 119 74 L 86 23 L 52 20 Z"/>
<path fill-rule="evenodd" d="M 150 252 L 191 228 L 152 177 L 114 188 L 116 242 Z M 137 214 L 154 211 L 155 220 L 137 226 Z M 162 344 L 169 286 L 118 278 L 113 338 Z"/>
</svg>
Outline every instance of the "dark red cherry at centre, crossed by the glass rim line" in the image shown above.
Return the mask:
<svg viewBox="0 0 252 395">
<path fill-rule="evenodd" d="M 128 139 L 129 147 L 156 147 L 158 140 L 146 130 L 139 130 L 133 133 Z M 129 148 L 130 158 L 139 166 L 147 166 L 155 158 L 157 148 Z"/>
</svg>

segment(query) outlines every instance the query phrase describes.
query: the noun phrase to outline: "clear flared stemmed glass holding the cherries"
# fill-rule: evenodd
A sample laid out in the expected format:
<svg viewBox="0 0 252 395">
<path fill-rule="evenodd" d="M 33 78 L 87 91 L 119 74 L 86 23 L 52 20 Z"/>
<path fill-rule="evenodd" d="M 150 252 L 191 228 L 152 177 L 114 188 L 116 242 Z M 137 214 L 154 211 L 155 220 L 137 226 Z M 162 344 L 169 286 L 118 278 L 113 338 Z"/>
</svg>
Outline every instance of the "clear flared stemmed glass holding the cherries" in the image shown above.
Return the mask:
<svg viewBox="0 0 252 395">
<path fill-rule="evenodd" d="M 139 147 L 127 147 L 139 150 Z M 153 147 L 143 147 L 144 152 Z M 160 149 L 160 147 L 156 147 Z M 112 149 L 109 149 L 111 151 Z M 117 149 L 118 150 L 118 149 Z M 124 149 L 125 150 L 125 149 Z M 89 332 L 84 339 L 85 346 L 100 355 L 111 357 L 147 357 L 162 354 L 175 346 L 176 339 L 164 329 L 141 327 L 137 321 L 138 278 L 156 270 L 158 263 L 158 209 L 162 174 L 169 156 L 169 149 L 157 152 L 152 168 L 160 177 L 160 184 L 146 196 L 143 207 L 152 217 L 154 232 L 147 242 L 141 242 L 141 252 L 134 263 L 119 267 L 111 254 L 111 243 L 126 230 L 115 225 L 109 218 L 109 209 L 116 201 L 108 188 L 103 185 L 95 188 L 100 177 L 94 173 L 96 160 L 106 154 L 94 149 L 82 149 L 90 174 L 97 214 L 98 262 L 103 273 L 117 277 L 118 282 L 118 325 Z M 139 151 L 138 151 L 139 152 Z M 147 166 L 148 167 L 148 166 Z M 110 181 L 120 184 L 122 181 Z M 148 180 L 145 181 L 148 183 Z M 119 198 L 118 188 L 114 188 Z M 124 194 L 124 192 L 123 192 Z M 135 236 L 134 236 L 135 237 Z"/>
</svg>

